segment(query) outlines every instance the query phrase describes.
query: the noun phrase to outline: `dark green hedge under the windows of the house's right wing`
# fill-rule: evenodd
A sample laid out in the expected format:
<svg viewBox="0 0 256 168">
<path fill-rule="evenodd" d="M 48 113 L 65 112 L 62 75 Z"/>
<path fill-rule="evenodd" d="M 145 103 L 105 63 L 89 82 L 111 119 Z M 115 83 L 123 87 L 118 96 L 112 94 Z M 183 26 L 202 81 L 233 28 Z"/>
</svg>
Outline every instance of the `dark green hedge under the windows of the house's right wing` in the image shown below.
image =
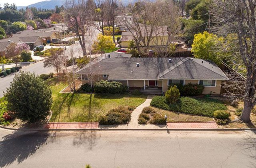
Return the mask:
<svg viewBox="0 0 256 168">
<path fill-rule="evenodd" d="M 182 84 L 175 84 L 175 85 L 179 89 L 181 96 L 198 96 L 198 95 L 201 95 L 204 91 L 204 86 L 199 84 L 189 83 L 184 86 Z M 170 87 L 172 87 L 172 85 L 170 85 L 169 88 Z"/>
</svg>

